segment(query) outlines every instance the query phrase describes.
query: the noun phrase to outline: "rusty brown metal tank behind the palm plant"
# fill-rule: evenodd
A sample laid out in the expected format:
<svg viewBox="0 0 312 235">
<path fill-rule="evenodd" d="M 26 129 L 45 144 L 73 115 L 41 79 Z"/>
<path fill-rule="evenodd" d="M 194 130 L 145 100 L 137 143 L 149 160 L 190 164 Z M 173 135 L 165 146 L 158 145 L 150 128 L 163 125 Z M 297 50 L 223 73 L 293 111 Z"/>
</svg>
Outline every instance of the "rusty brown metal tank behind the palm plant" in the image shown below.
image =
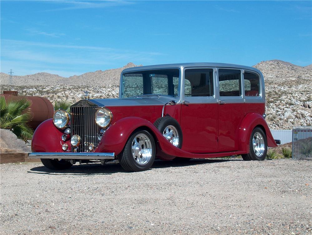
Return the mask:
<svg viewBox="0 0 312 235">
<path fill-rule="evenodd" d="M 8 98 L 14 99 L 14 97 L 24 97 L 32 101 L 30 110 L 33 113 L 33 118 L 30 122 L 28 122 L 28 124 L 34 130 L 39 126 L 41 122 L 53 117 L 53 105 L 47 98 L 39 96 L 17 95 L 17 91 L 3 91 L 3 94 L 0 95 L 4 96 L 6 100 Z"/>
</svg>

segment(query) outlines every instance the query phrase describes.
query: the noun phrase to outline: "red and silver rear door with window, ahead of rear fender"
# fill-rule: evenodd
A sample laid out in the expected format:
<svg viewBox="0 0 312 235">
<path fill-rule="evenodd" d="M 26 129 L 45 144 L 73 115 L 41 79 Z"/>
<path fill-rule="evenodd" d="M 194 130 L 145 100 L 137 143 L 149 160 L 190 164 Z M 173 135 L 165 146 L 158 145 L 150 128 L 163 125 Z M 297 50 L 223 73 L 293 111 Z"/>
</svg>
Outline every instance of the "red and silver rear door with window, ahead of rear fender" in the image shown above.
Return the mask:
<svg viewBox="0 0 312 235">
<path fill-rule="evenodd" d="M 218 68 L 218 152 L 238 150 L 238 130 L 244 113 L 242 70 Z"/>
</svg>

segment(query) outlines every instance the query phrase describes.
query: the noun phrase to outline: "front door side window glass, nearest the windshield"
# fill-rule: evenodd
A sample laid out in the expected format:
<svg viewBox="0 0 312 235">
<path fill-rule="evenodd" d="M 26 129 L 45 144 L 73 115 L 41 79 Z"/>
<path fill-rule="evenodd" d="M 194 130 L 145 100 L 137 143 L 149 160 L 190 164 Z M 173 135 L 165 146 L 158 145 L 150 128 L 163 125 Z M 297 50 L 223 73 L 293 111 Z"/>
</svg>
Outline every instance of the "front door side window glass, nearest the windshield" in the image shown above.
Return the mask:
<svg viewBox="0 0 312 235">
<path fill-rule="evenodd" d="M 185 70 L 185 96 L 213 96 L 213 70 L 189 69 Z"/>
</svg>

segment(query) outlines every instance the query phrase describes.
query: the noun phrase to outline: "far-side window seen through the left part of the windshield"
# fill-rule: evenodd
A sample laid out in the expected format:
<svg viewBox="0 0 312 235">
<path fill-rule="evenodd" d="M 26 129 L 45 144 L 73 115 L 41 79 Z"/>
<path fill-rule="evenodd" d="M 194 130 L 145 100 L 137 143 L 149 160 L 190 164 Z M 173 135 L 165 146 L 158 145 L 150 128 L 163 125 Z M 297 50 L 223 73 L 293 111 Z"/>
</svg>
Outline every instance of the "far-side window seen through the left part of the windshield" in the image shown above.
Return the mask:
<svg viewBox="0 0 312 235">
<path fill-rule="evenodd" d="M 124 74 L 123 81 L 123 97 L 134 97 L 143 95 L 143 75 L 142 74 Z"/>
</svg>

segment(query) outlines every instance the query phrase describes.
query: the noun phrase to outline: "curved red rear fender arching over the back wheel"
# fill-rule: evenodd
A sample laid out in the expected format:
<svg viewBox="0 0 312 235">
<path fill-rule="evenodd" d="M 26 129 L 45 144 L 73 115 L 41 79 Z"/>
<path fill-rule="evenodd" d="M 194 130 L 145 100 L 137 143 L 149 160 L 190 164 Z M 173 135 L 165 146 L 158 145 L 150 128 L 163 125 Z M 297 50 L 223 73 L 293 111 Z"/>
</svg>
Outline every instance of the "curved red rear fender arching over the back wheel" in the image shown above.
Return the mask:
<svg viewBox="0 0 312 235">
<path fill-rule="evenodd" d="M 243 121 L 241 122 L 241 127 L 239 128 L 237 138 L 240 139 L 240 150 L 249 153 L 249 140 L 252 130 L 260 126 L 264 129 L 266 133 L 266 139 L 269 147 L 276 147 L 276 143 L 271 134 L 271 131 L 266 123 L 266 120 L 258 113 L 248 113 Z"/>
</svg>

